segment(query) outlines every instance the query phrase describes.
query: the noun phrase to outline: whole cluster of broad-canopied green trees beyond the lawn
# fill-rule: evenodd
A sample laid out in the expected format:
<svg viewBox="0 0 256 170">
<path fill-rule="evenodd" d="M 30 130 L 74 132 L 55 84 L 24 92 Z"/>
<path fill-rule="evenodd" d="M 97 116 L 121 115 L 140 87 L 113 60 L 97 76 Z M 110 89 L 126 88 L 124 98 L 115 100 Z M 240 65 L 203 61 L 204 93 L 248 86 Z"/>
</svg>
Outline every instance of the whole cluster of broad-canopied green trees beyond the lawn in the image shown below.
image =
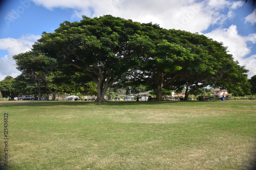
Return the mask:
<svg viewBox="0 0 256 170">
<path fill-rule="evenodd" d="M 30 52 L 13 59 L 22 71 L 15 88 L 33 86 L 39 96 L 42 90 L 53 96 L 92 92 L 101 102 L 110 87 L 143 85 L 156 91 L 157 100 L 163 89 L 185 88 L 188 100 L 204 87 L 236 95 L 249 94 L 251 88 L 248 70 L 221 42 L 111 15 L 64 21 L 53 33 L 42 33 Z"/>
</svg>

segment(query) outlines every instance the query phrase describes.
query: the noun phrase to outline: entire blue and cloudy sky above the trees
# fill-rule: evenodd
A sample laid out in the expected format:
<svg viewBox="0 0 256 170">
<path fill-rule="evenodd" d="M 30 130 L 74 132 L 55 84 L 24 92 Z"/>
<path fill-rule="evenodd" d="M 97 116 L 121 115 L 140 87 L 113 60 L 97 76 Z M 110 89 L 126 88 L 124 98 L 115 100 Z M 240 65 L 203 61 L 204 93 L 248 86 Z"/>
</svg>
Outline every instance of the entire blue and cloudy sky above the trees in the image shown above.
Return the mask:
<svg viewBox="0 0 256 170">
<path fill-rule="evenodd" d="M 256 6 L 256 4 L 254 4 Z M 8 0 L 0 4 L 0 81 L 16 77 L 12 56 L 31 49 L 42 32 L 59 23 L 80 21 L 81 15 L 111 14 L 153 22 L 223 42 L 234 60 L 256 75 L 256 8 L 244 0 Z"/>
</svg>

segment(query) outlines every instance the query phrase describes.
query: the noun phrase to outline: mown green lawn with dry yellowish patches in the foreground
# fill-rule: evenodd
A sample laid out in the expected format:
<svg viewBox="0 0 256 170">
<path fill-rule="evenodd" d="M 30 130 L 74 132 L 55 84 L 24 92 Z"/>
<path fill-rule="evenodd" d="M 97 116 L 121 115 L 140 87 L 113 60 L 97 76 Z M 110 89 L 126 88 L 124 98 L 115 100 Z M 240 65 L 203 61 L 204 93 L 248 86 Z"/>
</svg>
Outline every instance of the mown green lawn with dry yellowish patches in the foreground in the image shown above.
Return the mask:
<svg viewBox="0 0 256 170">
<path fill-rule="evenodd" d="M 256 160 L 256 101 L 13 101 L 0 111 L 8 169 L 249 169 Z"/>
</svg>

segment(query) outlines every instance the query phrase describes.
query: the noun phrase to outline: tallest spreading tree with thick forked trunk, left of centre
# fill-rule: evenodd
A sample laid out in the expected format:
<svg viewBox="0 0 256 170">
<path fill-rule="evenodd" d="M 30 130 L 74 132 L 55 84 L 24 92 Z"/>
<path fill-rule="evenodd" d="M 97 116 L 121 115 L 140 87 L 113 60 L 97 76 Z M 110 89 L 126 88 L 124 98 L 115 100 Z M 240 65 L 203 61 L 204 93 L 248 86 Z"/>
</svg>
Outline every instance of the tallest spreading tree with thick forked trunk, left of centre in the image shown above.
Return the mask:
<svg viewBox="0 0 256 170">
<path fill-rule="evenodd" d="M 57 59 L 65 69 L 86 73 L 97 83 L 96 101 L 101 102 L 108 88 L 135 65 L 127 42 L 140 30 L 140 23 L 132 20 L 83 16 L 80 22 L 61 23 L 54 33 L 44 32 L 34 50 Z"/>
</svg>

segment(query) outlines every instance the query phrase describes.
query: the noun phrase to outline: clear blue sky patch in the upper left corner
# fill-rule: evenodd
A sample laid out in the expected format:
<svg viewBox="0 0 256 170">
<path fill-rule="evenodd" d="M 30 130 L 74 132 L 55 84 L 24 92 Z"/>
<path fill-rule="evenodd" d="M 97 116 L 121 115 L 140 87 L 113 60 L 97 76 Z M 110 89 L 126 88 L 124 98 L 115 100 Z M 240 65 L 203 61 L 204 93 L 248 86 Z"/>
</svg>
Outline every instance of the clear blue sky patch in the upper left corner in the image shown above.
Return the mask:
<svg viewBox="0 0 256 170">
<path fill-rule="evenodd" d="M 26 34 L 40 35 L 43 31 L 53 32 L 58 28 L 59 23 L 64 20 L 75 20 L 71 19 L 71 9 L 56 8 L 48 10 L 42 6 L 37 6 L 32 2 L 30 2 L 29 8 L 22 8 L 22 4 L 17 3 L 16 1 L 10 2 L 12 3 L 7 3 L 6 7 L 1 9 L 0 38 L 19 38 Z M 9 19 L 6 16 L 12 10 L 17 11 L 17 13 L 19 12 L 19 16 L 14 19 Z M 15 16 L 15 12 L 13 13 Z"/>
</svg>

